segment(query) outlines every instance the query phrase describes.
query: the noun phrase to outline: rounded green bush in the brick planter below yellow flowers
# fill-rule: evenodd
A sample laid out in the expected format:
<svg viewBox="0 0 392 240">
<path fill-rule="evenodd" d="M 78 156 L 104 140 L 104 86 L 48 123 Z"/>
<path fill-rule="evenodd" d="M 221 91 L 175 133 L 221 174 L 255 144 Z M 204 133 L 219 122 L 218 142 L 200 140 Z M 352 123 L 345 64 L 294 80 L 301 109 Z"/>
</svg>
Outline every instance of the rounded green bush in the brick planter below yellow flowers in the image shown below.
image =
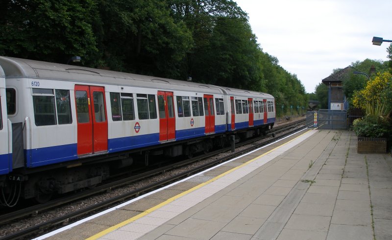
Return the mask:
<svg viewBox="0 0 392 240">
<path fill-rule="evenodd" d="M 391 131 L 388 119 L 371 115 L 354 120 L 352 130 L 357 136 L 366 138 L 386 138 Z"/>
</svg>

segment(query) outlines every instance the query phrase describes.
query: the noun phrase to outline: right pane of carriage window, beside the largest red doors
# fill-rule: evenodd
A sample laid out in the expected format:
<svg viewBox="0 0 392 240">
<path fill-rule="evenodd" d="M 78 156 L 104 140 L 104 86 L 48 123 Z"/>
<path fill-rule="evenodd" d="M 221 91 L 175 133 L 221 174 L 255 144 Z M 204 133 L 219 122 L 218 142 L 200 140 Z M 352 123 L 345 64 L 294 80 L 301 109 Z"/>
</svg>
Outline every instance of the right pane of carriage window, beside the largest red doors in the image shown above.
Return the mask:
<svg viewBox="0 0 392 240">
<path fill-rule="evenodd" d="M 71 101 L 69 90 L 55 90 L 58 124 L 71 124 Z"/>
</svg>

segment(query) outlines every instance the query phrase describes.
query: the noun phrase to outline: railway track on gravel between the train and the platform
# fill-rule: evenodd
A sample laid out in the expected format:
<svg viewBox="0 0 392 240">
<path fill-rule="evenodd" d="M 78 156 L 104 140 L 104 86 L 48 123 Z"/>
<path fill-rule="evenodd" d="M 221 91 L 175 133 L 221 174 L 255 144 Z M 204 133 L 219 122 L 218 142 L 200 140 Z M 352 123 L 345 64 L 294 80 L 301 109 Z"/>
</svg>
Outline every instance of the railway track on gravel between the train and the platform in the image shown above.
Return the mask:
<svg viewBox="0 0 392 240">
<path fill-rule="evenodd" d="M 270 144 L 274 141 L 277 141 L 281 138 L 284 138 L 294 132 L 297 132 L 299 130 L 302 130 L 306 128 L 307 126 L 305 125 L 306 120 L 298 120 L 291 122 L 286 125 L 281 125 L 274 127 L 273 130 L 271 130 L 266 136 L 263 136 L 261 138 L 254 138 L 250 139 L 247 141 L 244 141 L 242 143 L 236 144 L 236 147 L 242 147 L 246 146 L 244 149 L 241 150 L 236 150 L 235 152 L 232 152 L 228 154 L 228 156 L 224 156 L 221 158 L 217 158 L 211 161 L 208 161 L 202 165 L 199 165 L 197 168 L 192 168 L 189 170 L 184 170 L 181 171 L 178 174 L 166 177 L 162 180 L 155 181 L 151 184 L 147 184 L 143 187 L 137 188 L 135 190 L 123 193 L 121 195 L 112 197 L 108 200 L 98 202 L 94 205 L 90 205 L 87 207 L 84 207 L 82 209 L 79 209 L 77 211 L 73 211 L 71 213 L 65 214 L 63 216 L 55 217 L 53 219 L 50 219 L 48 221 L 36 224 L 31 227 L 27 227 L 23 230 L 13 232 L 11 234 L 7 234 L 5 236 L 0 237 L 0 240 L 12 240 L 12 239 L 25 239 L 25 238 L 32 238 L 34 236 L 40 236 L 46 232 L 50 232 L 56 228 L 59 228 L 61 226 L 67 225 L 69 223 L 75 222 L 79 220 L 80 218 L 90 216 L 93 213 L 97 213 L 98 211 L 103 211 L 104 209 L 110 208 L 113 205 L 119 204 L 121 202 L 127 201 L 129 199 L 132 199 L 138 195 L 144 194 L 146 192 L 151 192 L 155 189 L 161 188 L 162 186 L 168 185 L 172 182 L 178 181 L 182 178 L 185 178 L 189 175 L 196 174 L 197 172 L 200 172 L 206 168 L 210 168 L 212 166 L 218 165 L 222 162 L 228 161 L 236 156 L 245 154 L 246 152 L 252 151 L 254 149 L 257 149 L 261 147 L 262 145 Z M 269 138 L 268 140 L 265 140 L 266 138 Z M 263 140 L 264 139 L 264 140 Z M 258 143 L 261 142 L 262 143 Z M 99 194 L 102 192 L 107 192 L 115 188 L 119 188 L 120 186 L 126 185 L 126 184 L 132 184 L 137 181 L 141 181 L 142 179 L 146 179 L 149 177 L 152 177 L 154 175 L 160 174 L 162 172 L 167 172 L 175 168 L 180 168 L 183 166 L 188 166 L 192 163 L 199 162 L 203 159 L 207 158 L 212 158 L 213 156 L 217 156 L 218 154 L 226 151 L 230 151 L 232 147 L 225 147 L 213 152 L 210 152 L 208 154 L 204 154 L 202 156 L 197 156 L 192 159 L 187 159 L 184 161 L 176 162 L 169 164 L 167 166 L 161 167 L 161 168 L 156 168 L 153 170 L 149 170 L 146 172 L 143 172 L 141 174 L 131 176 L 131 177 L 126 177 L 121 180 L 117 180 L 108 184 L 101 185 L 95 189 L 92 190 L 86 190 L 83 192 L 79 192 L 77 194 L 73 194 L 71 196 L 67 197 L 62 197 L 53 201 L 49 201 L 45 204 L 39 204 L 35 206 L 31 206 L 25 209 L 21 209 L 18 211 L 14 211 L 5 215 L 0 216 L 0 225 L 5 225 L 11 221 L 15 221 L 16 219 L 22 219 L 22 218 L 27 218 L 29 216 L 36 216 L 38 213 L 42 213 L 45 211 L 48 211 L 49 209 L 53 209 L 59 206 L 63 206 L 65 204 L 72 203 L 73 201 L 76 201 L 78 199 L 82 198 L 87 198 L 89 196 Z"/>
</svg>

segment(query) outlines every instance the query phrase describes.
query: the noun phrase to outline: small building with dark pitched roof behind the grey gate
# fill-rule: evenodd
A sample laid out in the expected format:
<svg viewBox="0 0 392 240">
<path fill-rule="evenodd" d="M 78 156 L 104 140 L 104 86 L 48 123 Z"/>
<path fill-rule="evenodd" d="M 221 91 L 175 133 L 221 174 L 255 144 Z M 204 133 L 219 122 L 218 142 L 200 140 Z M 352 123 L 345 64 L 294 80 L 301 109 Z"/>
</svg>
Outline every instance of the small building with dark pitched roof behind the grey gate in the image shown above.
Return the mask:
<svg viewBox="0 0 392 240">
<path fill-rule="evenodd" d="M 349 73 L 353 71 L 351 66 L 333 73 L 322 79 L 322 83 L 328 87 L 328 109 L 329 110 L 347 110 L 348 101 L 343 93 L 343 81 L 348 78 Z"/>
</svg>

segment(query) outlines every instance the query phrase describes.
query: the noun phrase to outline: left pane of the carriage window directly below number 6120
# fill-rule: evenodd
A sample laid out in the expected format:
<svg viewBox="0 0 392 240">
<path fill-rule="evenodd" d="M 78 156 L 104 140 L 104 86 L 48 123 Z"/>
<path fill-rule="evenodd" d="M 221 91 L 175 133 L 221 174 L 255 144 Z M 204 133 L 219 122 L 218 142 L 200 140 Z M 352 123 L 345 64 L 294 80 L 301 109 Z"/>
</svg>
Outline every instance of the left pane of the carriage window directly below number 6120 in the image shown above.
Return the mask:
<svg viewBox="0 0 392 240">
<path fill-rule="evenodd" d="M 33 107 L 36 126 L 56 124 L 53 89 L 33 88 Z"/>
</svg>

